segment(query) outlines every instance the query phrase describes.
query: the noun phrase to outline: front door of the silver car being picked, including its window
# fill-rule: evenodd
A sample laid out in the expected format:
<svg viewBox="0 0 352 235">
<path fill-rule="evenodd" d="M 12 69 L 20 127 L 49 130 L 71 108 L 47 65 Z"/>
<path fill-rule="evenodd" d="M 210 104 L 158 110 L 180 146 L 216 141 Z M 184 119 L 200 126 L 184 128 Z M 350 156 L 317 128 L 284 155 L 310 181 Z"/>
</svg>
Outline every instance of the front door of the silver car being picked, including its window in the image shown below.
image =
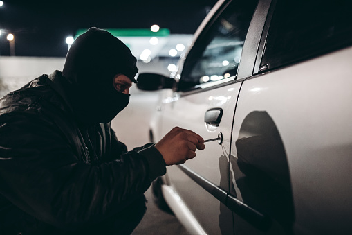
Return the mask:
<svg viewBox="0 0 352 235">
<path fill-rule="evenodd" d="M 237 71 L 257 0 L 225 1 L 192 46 L 183 64 L 176 92 L 163 99 L 162 135 L 174 126 L 204 139 L 197 157 L 169 166 L 169 183 L 207 234 L 232 234 L 229 153 L 234 109 L 241 82 Z"/>
</svg>

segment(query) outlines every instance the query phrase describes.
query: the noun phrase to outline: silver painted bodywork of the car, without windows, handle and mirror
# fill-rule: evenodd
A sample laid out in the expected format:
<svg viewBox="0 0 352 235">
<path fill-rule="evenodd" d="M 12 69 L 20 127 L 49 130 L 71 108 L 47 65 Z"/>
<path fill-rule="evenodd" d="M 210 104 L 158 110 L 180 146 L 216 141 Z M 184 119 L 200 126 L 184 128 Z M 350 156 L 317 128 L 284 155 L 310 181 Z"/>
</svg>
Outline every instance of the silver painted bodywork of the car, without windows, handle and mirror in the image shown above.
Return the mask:
<svg viewBox="0 0 352 235">
<path fill-rule="evenodd" d="M 216 3 L 198 28 L 172 74 L 177 82 L 230 2 Z M 204 139 L 223 134 L 221 145 L 205 143 L 163 177 L 165 200 L 192 234 L 352 233 L 352 47 L 262 64 L 277 2 L 259 1 L 237 76 L 160 92 L 151 122 L 156 141 L 174 126 Z M 217 127 L 204 122 L 213 109 L 223 112 Z"/>
</svg>

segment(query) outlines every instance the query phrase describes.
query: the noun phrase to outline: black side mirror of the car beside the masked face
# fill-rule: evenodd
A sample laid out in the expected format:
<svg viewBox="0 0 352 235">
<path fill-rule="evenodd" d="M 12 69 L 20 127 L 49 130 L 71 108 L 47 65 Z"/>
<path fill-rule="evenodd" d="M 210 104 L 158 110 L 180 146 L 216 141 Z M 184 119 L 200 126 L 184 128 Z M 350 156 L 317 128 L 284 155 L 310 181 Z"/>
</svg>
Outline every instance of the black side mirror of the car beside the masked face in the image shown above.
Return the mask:
<svg viewBox="0 0 352 235">
<path fill-rule="evenodd" d="M 156 73 L 140 73 L 137 78 L 137 87 L 143 91 L 156 91 L 158 89 L 172 88 L 176 81 Z"/>
</svg>

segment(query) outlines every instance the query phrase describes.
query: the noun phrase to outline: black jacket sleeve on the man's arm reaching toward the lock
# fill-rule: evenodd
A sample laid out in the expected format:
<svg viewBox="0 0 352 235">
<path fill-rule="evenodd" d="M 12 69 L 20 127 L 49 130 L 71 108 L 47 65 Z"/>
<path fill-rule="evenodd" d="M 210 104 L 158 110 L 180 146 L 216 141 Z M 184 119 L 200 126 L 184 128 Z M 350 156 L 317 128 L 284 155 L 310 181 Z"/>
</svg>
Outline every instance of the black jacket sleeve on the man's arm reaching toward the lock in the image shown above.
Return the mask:
<svg viewBox="0 0 352 235">
<path fill-rule="evenodd" d="M 55 227 L 77 229 L 113 216 L 166 171 L 152 146 L 91 166 L 40 115 L 12 112 L 0 123 L 0 193 Z"/>
</svg>

